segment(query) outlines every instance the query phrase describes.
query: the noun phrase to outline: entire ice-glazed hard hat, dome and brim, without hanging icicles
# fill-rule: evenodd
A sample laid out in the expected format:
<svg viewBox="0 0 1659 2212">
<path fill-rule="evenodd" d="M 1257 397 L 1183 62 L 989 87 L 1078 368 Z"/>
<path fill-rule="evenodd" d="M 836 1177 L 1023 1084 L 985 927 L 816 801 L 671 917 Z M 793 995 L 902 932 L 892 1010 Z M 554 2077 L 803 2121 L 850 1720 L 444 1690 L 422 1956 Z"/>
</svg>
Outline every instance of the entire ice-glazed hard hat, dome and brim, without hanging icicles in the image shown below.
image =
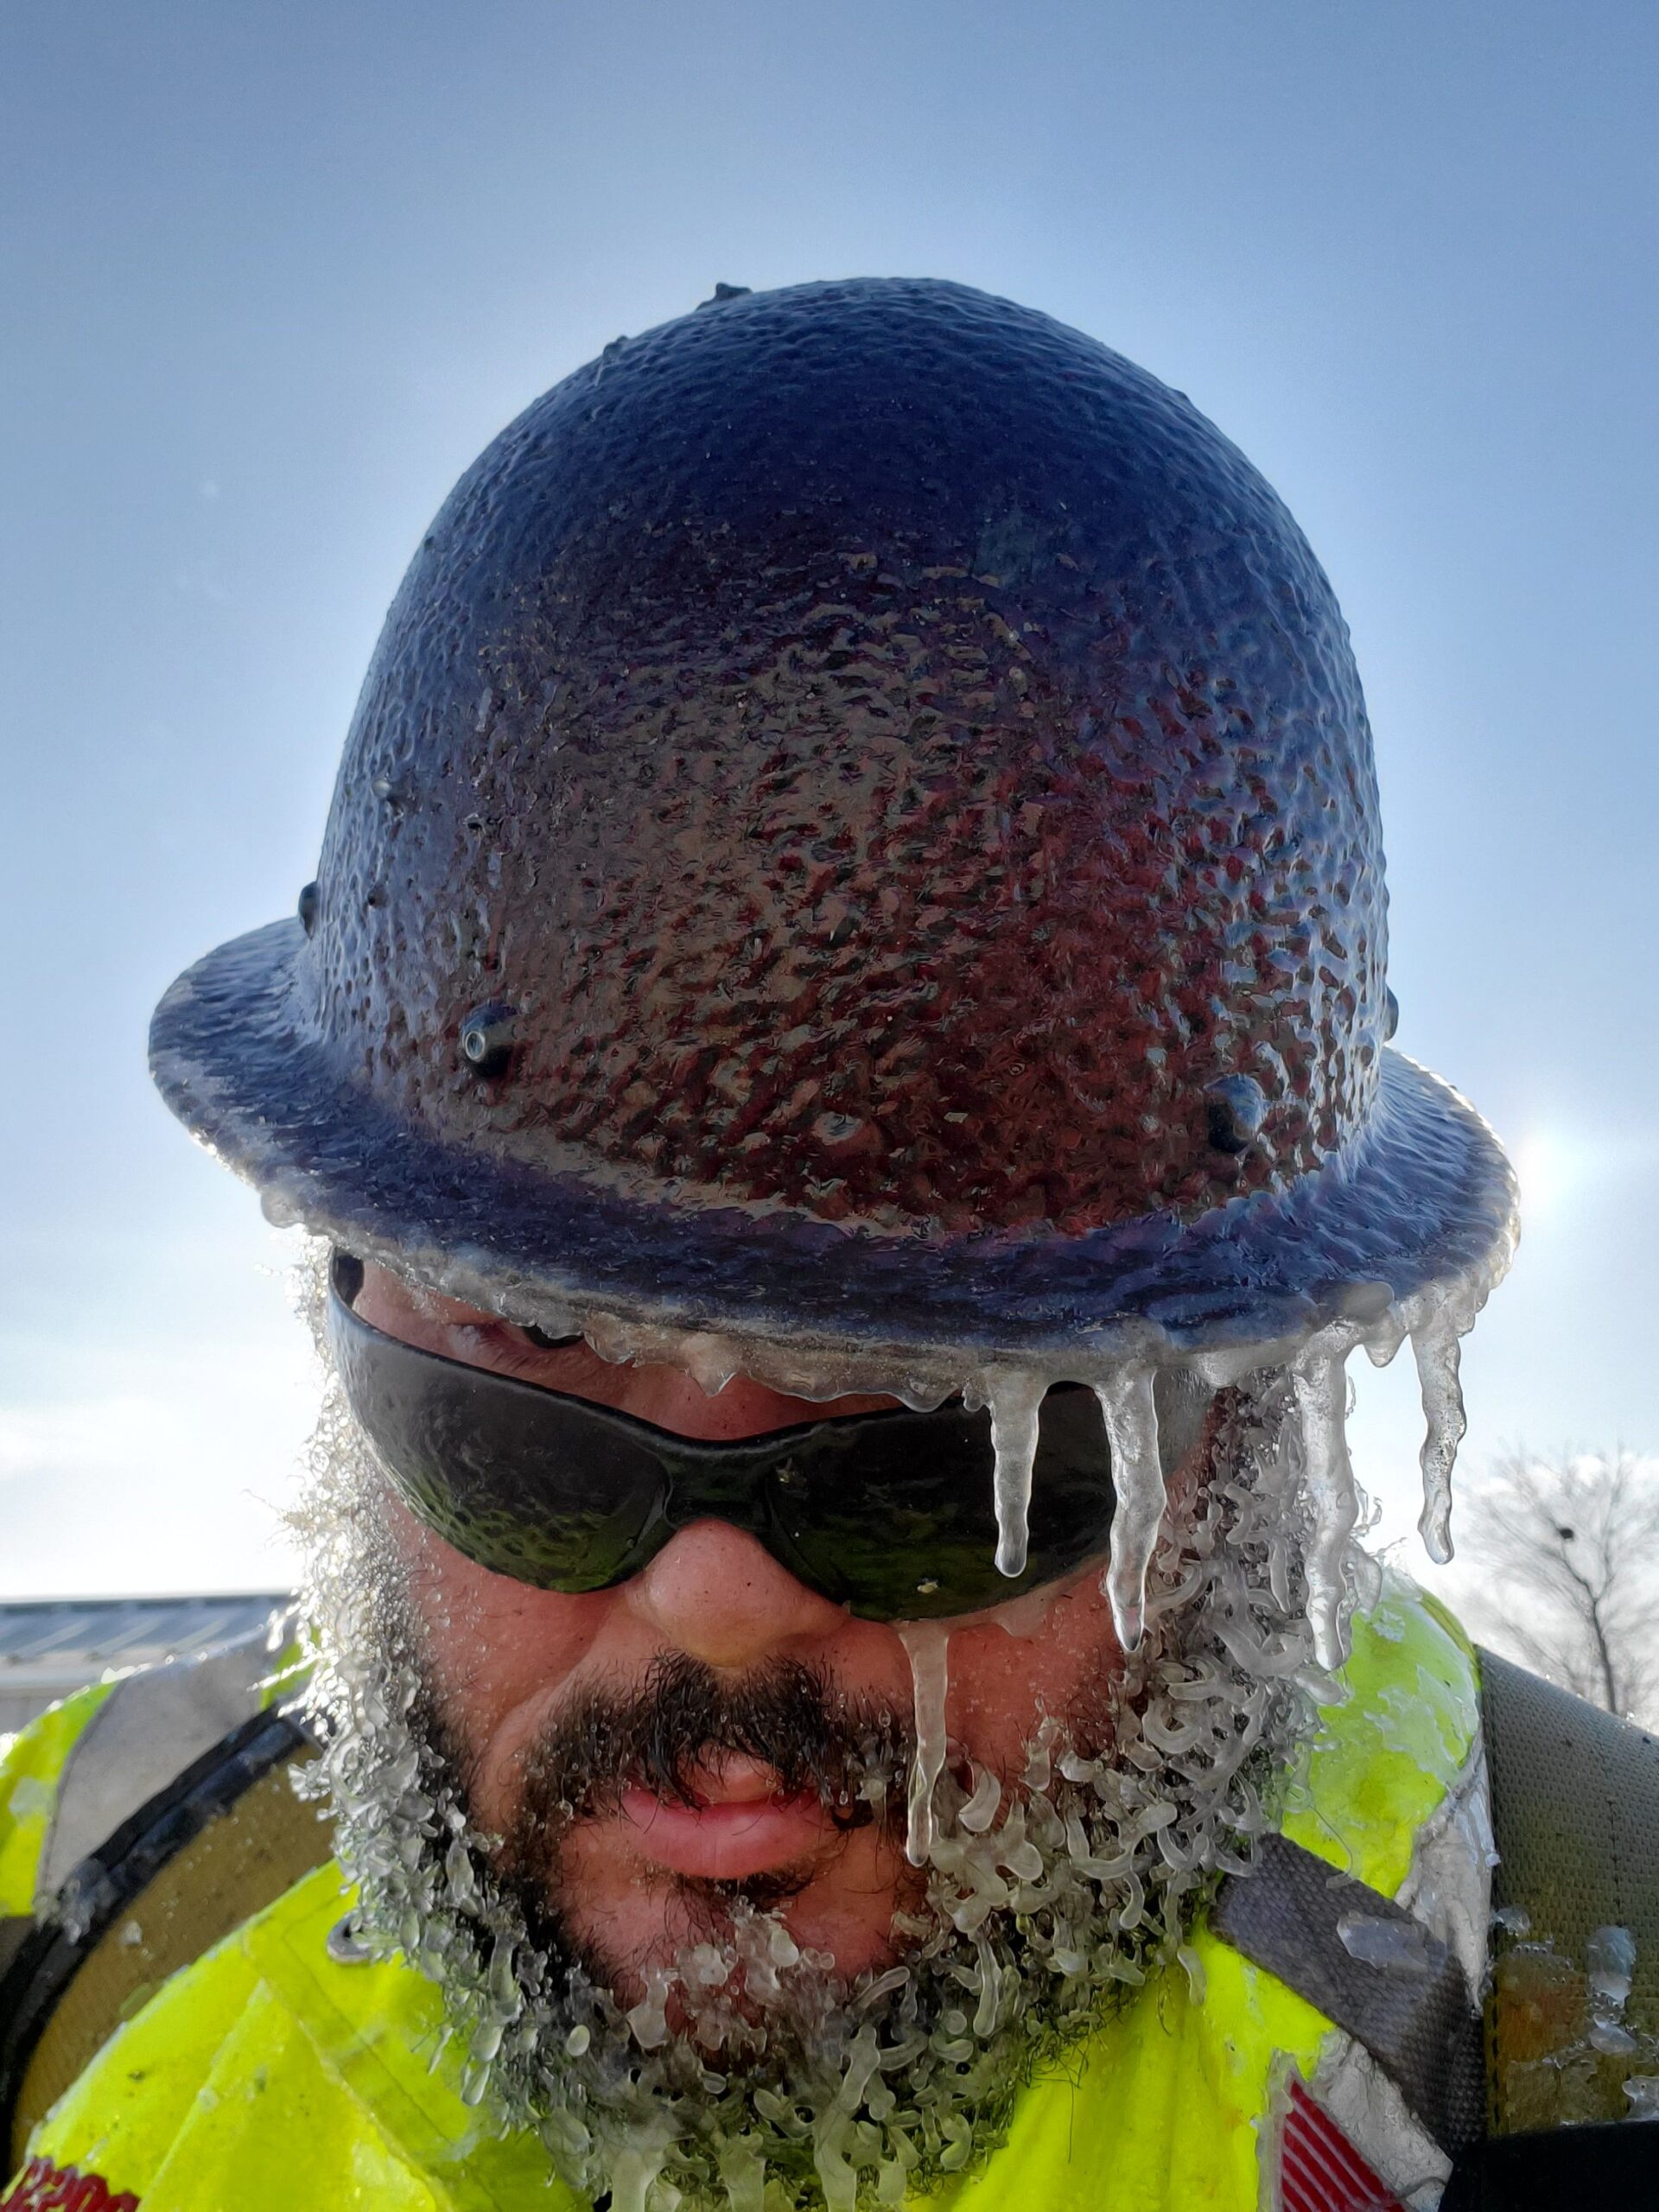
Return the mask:
<svg viewBox="0 0 1659 2212">
<path fill-rule="evenodd" d="M 641 334 L 480 456 L 305 920 L 197 962 L 153 1066 L 274 1210 L 471 1303 L 1093 1380 L 1502 1243 L 1385 962 L 1283 502 L 1093 338 L 849 281 Z"/>
</svg>

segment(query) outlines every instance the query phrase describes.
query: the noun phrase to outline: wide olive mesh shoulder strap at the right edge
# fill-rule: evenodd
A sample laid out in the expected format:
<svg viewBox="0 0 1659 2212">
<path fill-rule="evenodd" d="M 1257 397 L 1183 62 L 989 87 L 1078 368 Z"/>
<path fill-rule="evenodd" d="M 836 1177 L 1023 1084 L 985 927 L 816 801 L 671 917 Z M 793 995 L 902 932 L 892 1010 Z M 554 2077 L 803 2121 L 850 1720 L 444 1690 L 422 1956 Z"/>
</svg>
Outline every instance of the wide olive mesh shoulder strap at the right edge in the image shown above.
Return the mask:
<svg viewBox="0 0 1659 2212">
<path fill-rule="evenodd" d="M 1630 1929 L 1626 2020 L 1659 2033 L 1659 1741 L 1486 1650 L 1480 1708 L 1493 1905 L 1526 1913 L 1568 1960 L 1595 1929 Z"/>
</svg>

